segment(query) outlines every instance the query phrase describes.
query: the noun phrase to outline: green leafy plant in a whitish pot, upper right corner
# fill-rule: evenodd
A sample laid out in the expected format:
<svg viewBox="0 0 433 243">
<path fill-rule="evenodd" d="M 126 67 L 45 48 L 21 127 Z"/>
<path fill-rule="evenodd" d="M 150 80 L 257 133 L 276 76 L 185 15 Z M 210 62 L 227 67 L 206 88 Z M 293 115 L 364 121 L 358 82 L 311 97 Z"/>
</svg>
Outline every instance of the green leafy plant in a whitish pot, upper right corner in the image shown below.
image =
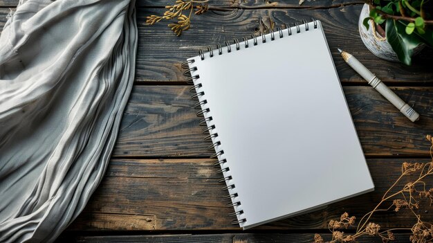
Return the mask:
<svg viewBox="0 0 433 243">
<path fill-rule="evenodd" d="M 366 0 L 359 29 L 367 48 L 385 60 L 412 64 L 412 55 L 433 47 L 433 0 Z"/>
</svg>

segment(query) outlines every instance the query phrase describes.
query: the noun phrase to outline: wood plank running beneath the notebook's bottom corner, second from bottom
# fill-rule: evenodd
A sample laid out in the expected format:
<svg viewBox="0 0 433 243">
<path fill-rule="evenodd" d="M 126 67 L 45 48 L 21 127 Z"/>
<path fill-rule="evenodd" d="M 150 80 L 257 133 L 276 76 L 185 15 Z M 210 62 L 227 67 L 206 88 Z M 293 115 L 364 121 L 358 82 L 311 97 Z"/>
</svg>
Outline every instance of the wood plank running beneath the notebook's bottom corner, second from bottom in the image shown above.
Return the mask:
<svg viewBox="0 0 433 243">
<path fill-rule="evenodd" d="M 401 163 L 417 160 L 367 161 L 376 186 L 374 192 L 254 230 L 326 229 L 329 220 L 339 218 L 345 211 L 360 219 L 361 215 L 374 208 L 398 178 Z M 228 217 L 228 213 L 233 209 L 227 208 L 225 204 L 228 201 L 222 199 L 228 192 L 221 190 L 224 186 L 218 182 L 221 174 L 216 173 L 218 168 L 212 166 L 213 162 L 208 159 L 113 159 L 100 187 L 68 231 L 241 231 L 230 223 L 233 218 Z M 430 188 L 433 178 L 426 182 Z M 301 181 L 300 186 L 302 183 L 308 183 L 308 178 Z M 329 189 L 338 186 L 329 185 Z M 433 212 L 424 209 L 421 208 L 418 213 L 431 222 Z M 383 228 L 402 228 L 414 224 L 408 210 L 381 212 L 372 220 Z"/>
</svg>

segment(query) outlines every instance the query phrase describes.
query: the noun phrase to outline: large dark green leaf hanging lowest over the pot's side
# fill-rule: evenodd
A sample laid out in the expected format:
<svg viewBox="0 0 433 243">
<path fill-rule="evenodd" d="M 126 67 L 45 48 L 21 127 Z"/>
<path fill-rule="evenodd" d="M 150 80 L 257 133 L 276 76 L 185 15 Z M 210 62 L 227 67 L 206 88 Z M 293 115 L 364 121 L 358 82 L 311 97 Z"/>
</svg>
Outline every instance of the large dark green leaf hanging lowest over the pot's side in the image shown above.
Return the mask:
<svg viewBox="0 0 433 243">
<path fill-rule="evenodd" d="M 398 60 L 406 65 L 412 64 L 414 48 L 421 44 L 417 35 L 407 35 L 405 25 L 395 19 L 387 19 L 386 33 L 388 43 L 397 53 Z"/>
</svg>

